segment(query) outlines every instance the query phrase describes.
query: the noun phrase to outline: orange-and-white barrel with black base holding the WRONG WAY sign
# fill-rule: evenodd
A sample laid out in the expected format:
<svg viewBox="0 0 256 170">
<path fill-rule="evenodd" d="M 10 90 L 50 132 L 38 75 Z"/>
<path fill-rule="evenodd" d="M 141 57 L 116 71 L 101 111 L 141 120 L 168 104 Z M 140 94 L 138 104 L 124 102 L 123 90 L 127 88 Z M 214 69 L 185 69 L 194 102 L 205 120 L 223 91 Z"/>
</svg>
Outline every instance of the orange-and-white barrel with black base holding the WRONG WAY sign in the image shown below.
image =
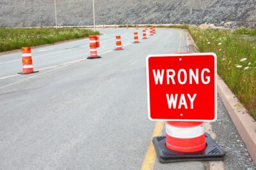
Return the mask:
<svg viewBox="0 0 256 170">
<path fill-rule="evenodd" d="M 223 160 L 225 152 L 205 133 L 204 122 L 166 122 L 166 136 L 153 144 L 160 162 Z"/>
</svg>

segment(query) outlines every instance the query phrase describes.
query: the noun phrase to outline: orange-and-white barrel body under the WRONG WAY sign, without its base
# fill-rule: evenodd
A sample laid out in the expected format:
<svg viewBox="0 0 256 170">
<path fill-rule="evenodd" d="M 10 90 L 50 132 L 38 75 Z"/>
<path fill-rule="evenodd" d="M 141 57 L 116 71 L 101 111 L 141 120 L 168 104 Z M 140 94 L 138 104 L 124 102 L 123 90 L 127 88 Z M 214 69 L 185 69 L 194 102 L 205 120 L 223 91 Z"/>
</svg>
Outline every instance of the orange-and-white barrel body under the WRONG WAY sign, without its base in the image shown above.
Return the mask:
<svg viewBox="0 0 256 170">
<path fill-rule="evenodd" d="M 166 147 L 178 152 L 204 150 L 204 122 L 166 122 Z"/>
</svg>

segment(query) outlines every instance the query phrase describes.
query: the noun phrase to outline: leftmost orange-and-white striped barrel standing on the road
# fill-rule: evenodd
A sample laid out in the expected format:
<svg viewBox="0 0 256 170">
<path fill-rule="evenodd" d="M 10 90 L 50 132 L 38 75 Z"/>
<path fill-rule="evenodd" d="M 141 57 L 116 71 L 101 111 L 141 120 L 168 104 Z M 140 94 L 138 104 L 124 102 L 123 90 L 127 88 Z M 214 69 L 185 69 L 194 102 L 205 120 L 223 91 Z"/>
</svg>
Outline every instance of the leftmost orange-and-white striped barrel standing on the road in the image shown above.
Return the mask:
<svg viewBox="0 0 256 170">
<path fill-rule="evenodd" d="M 33 73 L 33 62 L 30 47 L 22 47 L 22 72 L 24 74 Z"/>
</svg>

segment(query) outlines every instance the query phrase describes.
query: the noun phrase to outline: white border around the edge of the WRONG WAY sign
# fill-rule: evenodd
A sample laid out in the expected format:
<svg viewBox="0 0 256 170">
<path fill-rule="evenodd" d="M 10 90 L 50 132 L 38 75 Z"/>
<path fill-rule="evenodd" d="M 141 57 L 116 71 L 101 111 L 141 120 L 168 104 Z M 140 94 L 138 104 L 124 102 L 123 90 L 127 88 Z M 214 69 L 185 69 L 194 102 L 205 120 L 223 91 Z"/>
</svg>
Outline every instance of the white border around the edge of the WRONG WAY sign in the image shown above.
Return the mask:
<svg viewBox="0 0 256 170">
<path fill-rule="evenodd" d="M 149 73 L 148 73 L 148 59 L 150 57 L 182 57 L 193 55 L 212 55 L 214 57 L 214 119 L 212 120 L 190 120 L 190 119 L 155 119 L 150 117 L 150 98 L 149 98 Z M 147 99 L 148 99 L 148 119 L 151 121 L 180 121 L 180 122 L 214 122 L 217 119 L 217 55 L 215 53 L 170 53 L 170 54 L 157 54 L 147 55 Z"/>
</svg>

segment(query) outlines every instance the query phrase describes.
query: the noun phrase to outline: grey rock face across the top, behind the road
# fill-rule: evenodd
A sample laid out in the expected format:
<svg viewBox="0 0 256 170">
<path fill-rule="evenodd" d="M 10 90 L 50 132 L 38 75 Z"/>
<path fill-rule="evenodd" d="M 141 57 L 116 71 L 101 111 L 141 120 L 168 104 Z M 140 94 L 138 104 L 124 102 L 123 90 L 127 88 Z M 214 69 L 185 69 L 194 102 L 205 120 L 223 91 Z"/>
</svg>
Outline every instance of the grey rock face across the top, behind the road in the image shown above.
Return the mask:
<svg viewBox="0 0 256 170">
<path fill-rule="evenodd" d="M 94 0 L 96 24 L 256 24 L 256 0 Z M 58 25 L 92 25 L 92 0 L 56 0 Z M 55 25 L 54 0 L 0 0 L 1 27 Z"/>
</svg>

